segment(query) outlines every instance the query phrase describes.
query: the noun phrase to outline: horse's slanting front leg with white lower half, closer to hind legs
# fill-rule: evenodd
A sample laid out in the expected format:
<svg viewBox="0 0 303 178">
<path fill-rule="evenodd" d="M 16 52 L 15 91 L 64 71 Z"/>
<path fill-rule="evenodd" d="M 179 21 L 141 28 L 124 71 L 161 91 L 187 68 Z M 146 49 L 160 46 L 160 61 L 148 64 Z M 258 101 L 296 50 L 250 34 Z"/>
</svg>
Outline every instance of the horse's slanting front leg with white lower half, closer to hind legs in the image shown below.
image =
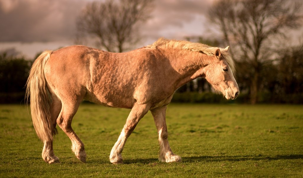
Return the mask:
<svg viewBox="0 0 303 178">
<path fill-rule="evenodd" d="M 135 129 L 136 125 L 140 119 L 148 112 L 150 108 L 149 104 L 135 104 L 131 112 L 128 115 L 126 123 L 122 129 L 122 132 L 112 148 L 111 154 L 109 156 L 110 162 L 113 164 L 122 164 L 122 150 L 125 142 L 132 131 Z"/>
</svg>

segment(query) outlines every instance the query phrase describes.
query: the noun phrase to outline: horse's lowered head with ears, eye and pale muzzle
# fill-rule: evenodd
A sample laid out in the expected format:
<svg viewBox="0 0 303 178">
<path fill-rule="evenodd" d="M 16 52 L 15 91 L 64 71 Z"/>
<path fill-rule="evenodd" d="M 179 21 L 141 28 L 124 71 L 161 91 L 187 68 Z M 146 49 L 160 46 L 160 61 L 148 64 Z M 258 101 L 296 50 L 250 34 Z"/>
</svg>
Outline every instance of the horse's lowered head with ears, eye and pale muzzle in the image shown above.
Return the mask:
<svg viewBox="0 0 303 178">
<path fill-rule="evenodd" d="M 205 79 L 215 90 L 221 91 L 226 99 L 236 99 L 239 87 L 234 77 L 234 62 L 227 53 L 228 47 L 215 51 L 214 59 L 205 67 L 204 74 Z"/>
</svg>

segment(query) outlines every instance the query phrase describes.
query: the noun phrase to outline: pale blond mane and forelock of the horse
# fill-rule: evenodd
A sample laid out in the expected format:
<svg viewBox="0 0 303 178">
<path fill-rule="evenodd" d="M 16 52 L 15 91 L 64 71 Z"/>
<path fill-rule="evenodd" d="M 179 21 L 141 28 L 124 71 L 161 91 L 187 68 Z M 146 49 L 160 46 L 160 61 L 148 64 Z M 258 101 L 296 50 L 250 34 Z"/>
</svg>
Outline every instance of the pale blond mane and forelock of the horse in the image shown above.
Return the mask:
<svg viewBox="0 0 303 178">
<path fill-rule="evenodd" d="M 215 52 L 218 49 L 218 47 L 211 47 L 206 44 L 202 43 L 192 43 L 189 41 L 181 41 L 181 40 L 174 40 L 174 39 L 165 39 L 165 38 L 159 38 L 157 41 L 155 41 L 153 44 L 145 46 L 147 48 L 165 48 L 165 49 L 180 49 L 180 50 L 191 50 L 191 51 L 198 51 L 203 52 L 208 56 L 215 56 Z M 235 62 L 231 58 L 230 54 L 223 50 L 222 48 L 219 48 L 221 55 L 225 58 L 226 62 L 228 63 L 229 67 L 231 68 L 232 72 L 235 74 Z"/>
</svg>

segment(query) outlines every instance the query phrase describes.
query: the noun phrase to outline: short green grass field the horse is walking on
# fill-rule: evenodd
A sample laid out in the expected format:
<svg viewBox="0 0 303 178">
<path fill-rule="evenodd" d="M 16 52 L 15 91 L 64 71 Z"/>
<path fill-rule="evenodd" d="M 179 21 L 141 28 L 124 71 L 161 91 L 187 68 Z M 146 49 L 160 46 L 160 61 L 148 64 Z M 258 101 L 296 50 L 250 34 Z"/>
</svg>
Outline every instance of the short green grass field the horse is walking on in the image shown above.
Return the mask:
<svg viewBox="0 0 303 178">
<path fill-rule="evenodd" d="M 126 142 L 125 164 L 112 165 L 109 153 L 129 111 L 82 104 L 72 126 L 87 163 L 58 128 L 61 163 L 48 165 L 25 106 L 0 105 L 0 177 L 303 177 L 302 105 L 170 104 L 168 139 L 182 163 L 158 161 L 148 112 Z"/>
</svg>

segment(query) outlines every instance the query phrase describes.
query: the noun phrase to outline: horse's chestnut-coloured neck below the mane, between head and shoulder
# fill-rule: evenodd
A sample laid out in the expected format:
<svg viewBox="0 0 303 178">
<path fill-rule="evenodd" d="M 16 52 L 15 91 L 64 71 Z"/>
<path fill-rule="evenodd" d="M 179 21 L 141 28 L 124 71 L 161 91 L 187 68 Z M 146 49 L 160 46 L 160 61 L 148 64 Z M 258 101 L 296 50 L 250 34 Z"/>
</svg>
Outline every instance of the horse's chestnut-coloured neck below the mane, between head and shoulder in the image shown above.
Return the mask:
<svg viewBox="0 0 303 178">
<path fill-rule="evenodd" d="M 209 57 L 207 55 L 189 50 L 169 52 L 166 57 L 170 60 L 172 68 L 180 74 L 173 76 L 176 81 L 176 89 L 191 80 L 203 76 L 203 68 L 209 63 Z"/>
</svg>

